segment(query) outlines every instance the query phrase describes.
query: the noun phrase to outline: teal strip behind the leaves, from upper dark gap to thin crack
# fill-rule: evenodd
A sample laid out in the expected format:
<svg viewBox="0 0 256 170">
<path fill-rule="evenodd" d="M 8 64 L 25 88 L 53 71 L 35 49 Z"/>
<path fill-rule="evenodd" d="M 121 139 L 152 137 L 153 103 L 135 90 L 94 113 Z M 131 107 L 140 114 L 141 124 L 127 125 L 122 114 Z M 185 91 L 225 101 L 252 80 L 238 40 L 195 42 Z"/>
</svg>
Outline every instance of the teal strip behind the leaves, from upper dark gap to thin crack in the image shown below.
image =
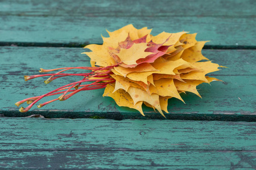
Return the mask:
<svg viewBox="0 0 256 170">
<path fill-rule="evenodd" d="M 83 48 L 37 48 L 0 46 L 1 75 L 20 76 L 38 74 L 39 68 L 90 66 L 90 58 Z M 203 50 L 203 55 L 219 65 L 227 66 L 211 75 L 256 75 L 256 50 Z M 49 62 L 52 61 L 52 62 Z M 13 81 L 3 78 L 7 82 Z M 35 80 L 32 80 L 35 81 Z"/>
</svg>

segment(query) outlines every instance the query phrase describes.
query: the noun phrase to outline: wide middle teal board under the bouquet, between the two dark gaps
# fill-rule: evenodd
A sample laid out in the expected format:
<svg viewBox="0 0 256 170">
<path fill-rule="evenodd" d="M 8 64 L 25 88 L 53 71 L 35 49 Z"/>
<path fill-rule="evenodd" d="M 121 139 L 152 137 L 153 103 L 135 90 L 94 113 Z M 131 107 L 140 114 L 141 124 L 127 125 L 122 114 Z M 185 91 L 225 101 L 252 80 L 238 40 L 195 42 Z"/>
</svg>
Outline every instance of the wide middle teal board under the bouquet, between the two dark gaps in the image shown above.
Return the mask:
<svg viewBox="0 0 256 170">
<path fill-rule="evenodd" d="M 89 66 L 89 58 L 80 54 L 84 49 L 73 48 L 24 48 L 2 47 L 0 53 L 0 113 L 5 116 L 42 114 L 45 117 L 83 118 L 163 118 L 159 113 L 144 107 L 146 117 L 133 109 L 118 107 L 110 97 L 102 97 L 104 90 L 80 92 L 67 101 L 56 101 L 30 112 L 19 113 L 16 101 L 45 94 L 79 78 L 59 79 L 45 85 L 46 78 L 25 82 L 23 75 L 39 74 L 37 69 L 56 67 Z M 204 50 L 204 55 L 220 65 L 228 66 L 212 75 L 225 82 L 212 82 L 199 86 L 203 99 L 196 95 L 183 95 L 185 103 L 169 100 L 167 118 L 192 120 L 243 120 L 253 121 L 256 115 L 255 100 L 255 53 L 256 50 Z M 49 62 L 51 61 L 51 62 Z M 49 98 L 51 99 L 51 98 Z M 47 101 L 47 100 L 43 100 Z M 23 106 L 26 107 L 26 104 Z M 246 117 L 247 116 L 247 117 Z"/>
</svg>

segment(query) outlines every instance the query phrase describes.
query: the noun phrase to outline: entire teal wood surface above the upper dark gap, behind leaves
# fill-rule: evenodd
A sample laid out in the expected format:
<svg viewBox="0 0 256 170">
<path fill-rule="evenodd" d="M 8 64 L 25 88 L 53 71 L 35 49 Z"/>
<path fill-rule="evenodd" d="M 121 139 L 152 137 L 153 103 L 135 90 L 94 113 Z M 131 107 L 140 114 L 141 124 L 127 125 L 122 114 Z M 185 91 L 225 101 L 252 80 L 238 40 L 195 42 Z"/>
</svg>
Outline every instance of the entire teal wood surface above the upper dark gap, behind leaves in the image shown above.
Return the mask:
<svg viewBox="0 0 256 170">
<path fill-rule="evenodd" d="M 0 42 L 101 44 L 105 29 L 127 24 L 160 32 L 198 32 L 208 45 L 255 48 L 253 0 L 239 1 L 1 1 Z M 18 43 L 16 43 L 18 42 Z M 51 46 L 50 45 L 50 46 Z"/>
</svg>

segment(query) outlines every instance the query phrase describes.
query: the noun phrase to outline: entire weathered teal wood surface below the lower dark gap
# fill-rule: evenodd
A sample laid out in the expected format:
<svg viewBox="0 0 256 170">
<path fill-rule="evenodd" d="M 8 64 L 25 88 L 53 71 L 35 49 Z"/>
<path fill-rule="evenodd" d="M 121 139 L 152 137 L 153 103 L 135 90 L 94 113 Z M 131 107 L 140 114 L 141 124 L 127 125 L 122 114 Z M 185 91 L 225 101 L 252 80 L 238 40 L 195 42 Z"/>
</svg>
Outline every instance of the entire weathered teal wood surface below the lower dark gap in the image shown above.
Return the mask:
<svg viewBox="0 0 256 170">
<path fill-rule="evenodd" d="M 255 122 L 0 118 L 0 168 L 256 168 Z"/>
</svg>

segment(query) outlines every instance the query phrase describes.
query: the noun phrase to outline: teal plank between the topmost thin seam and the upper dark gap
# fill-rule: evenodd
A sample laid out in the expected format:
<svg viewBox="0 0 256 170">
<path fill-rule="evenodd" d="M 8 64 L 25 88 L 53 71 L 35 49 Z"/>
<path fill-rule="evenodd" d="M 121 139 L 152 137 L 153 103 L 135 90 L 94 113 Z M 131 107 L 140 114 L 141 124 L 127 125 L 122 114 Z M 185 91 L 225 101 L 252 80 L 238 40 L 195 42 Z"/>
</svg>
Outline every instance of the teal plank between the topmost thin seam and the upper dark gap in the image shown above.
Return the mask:
<svg viewBox="0 0 256 170">
<path fill-rule="evenodd" d="M 152 35 L 160 32 L 190 31 L 199 33 L 197 40 L 208 45 L 251 46 L 254 48 L 255 18 L 226 18 L 211 16 L 12 16 L 1 15 L 0 42 L 2 45 L 54 43 L 86 45 L 101 44 L 105 29 L 114 31 L 127 24 L 136 28 L 153 28 Z M 245 32 L 246 31 L 246 32 Z"/>
</svg>

